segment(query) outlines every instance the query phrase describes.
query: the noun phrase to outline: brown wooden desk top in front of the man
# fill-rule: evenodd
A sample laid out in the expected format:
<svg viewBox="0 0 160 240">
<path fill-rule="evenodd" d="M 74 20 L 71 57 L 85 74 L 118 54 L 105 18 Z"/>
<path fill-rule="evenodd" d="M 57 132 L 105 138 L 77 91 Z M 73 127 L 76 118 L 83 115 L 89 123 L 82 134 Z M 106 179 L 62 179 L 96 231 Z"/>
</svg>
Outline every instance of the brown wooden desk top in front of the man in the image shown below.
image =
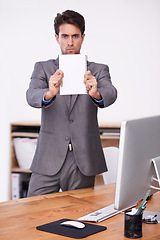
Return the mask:
<svg viewBox="0 0 160 240">
<path fill-rule="evenodd" d="M 77 219 L 80 216 L 113 203 L 113 201 L 114 185 L 111 184 L 0 203 L 0 239 L 70 239 L 38 231 L 36 230 L 36 226 L 61 218 Z M 160 211 L 159 202 L 160 192 L 156 193 L 148 202 L 147 210 Z M 107 230 L 89 236 L 88 240 L 127 239 L 123 236 L 123 213 L 98 224 L 107 226 Z M 160 239 L 160 225 L 143 224 L 143 237 L 141 239 Z"/>
</svg>

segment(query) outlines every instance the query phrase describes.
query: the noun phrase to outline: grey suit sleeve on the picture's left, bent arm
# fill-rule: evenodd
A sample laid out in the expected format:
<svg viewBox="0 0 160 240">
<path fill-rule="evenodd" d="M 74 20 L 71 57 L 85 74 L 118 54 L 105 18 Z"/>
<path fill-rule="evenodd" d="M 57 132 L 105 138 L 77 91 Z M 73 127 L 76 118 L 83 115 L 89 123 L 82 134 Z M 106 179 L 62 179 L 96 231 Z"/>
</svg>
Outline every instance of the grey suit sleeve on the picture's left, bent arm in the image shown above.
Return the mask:
<svg viewBox="0 0 160 240">
<path fill-rule="evenodd" d="M 41 108 L 45 92 L 48 90 L 48 79 L 41 63 L 36 63 L 31 76 L 29 88 L 26 92 L 27 102 L 30 106 Z"/>
</svg>

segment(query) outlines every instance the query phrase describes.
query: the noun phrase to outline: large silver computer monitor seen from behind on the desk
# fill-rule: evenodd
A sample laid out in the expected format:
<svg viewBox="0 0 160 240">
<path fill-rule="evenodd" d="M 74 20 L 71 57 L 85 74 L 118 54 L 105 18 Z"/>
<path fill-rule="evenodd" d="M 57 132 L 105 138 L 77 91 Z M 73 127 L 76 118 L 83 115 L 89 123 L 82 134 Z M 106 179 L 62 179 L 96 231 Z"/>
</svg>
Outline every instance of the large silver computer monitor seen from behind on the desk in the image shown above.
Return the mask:
<svg viewBox="0 0 160 240">
<path fill-rule="evenodd" d="M 123 121 L 118 158 L 115 209 L 160 190 L 160 116 Z"/>
</svg>

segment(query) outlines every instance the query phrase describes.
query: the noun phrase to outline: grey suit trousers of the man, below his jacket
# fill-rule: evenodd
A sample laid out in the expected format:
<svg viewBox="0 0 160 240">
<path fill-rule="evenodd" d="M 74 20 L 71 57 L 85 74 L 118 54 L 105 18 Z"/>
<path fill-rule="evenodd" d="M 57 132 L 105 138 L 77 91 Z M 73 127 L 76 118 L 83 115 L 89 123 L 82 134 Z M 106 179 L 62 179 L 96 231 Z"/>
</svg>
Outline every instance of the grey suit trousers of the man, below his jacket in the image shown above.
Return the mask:
<svg viewBox="0 0 160 240">
<path fill-rule="evenodd" d="M 54 167 L 54 166 L 53 166 Z M 61 170 L 53 176 L 33 172 L 31 175 L 28 197 L 48 193 L 93 187 L 95 176 L 83 175 L 74 159 L 73 151 L 68 151 Z"/>
</svg>

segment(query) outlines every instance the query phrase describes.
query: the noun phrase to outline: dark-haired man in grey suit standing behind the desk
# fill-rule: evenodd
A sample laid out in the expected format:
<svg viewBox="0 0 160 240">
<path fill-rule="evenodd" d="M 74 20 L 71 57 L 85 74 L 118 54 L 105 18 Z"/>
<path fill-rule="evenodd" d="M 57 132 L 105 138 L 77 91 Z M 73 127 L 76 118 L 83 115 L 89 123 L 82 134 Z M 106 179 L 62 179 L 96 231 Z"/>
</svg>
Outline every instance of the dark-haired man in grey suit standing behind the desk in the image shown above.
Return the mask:
<svg viewBox="0 0 160 240">
<path fill-rule="evenodd" d="M 83 16 L 71 10 L 57 14 L 54 28 L 61 53 L 79 54 L 85 37 Z M 117 91 L 106 65 L 88 62 L 87 68 L 83 81 L 88 94 L 62 96 L 59 59 L 35 64 L 27 101 L 42 108 L 42 119 L 28 196 L 91 187 L 95 175 L 107 171 L 97 108 L 114 103 Z"/>
</svg>

